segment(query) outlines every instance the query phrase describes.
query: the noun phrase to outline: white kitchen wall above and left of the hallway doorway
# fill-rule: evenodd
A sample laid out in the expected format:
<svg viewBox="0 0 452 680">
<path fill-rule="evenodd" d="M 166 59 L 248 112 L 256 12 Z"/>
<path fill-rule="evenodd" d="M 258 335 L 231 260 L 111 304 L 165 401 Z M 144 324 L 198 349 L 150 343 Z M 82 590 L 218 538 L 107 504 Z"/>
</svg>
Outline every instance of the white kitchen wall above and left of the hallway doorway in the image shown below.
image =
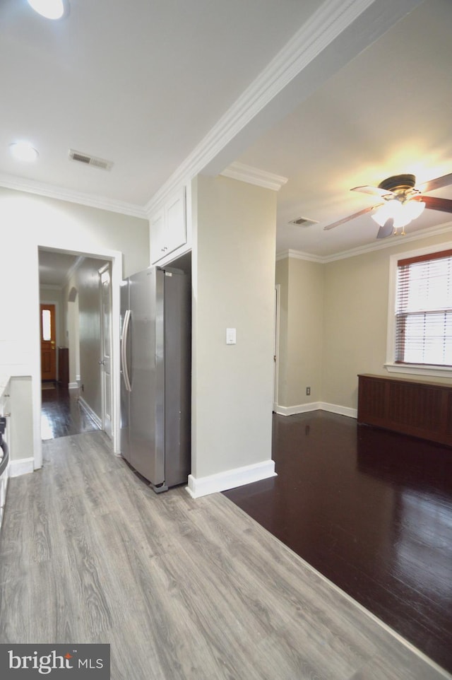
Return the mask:
<svg viewBox="0 0 452 680">
<path fill-rule="evenodd" d="M 38 246 L 123 259 L 124 276 L 148 266 L 148 221 L 0 189 L 0 369 L 32 377 L 32 440 L 41 464 Z M 119 293 L 118 293 L 119 295 Z M 119 304 L 119 303 L 118 303 Z"/>
</svg>

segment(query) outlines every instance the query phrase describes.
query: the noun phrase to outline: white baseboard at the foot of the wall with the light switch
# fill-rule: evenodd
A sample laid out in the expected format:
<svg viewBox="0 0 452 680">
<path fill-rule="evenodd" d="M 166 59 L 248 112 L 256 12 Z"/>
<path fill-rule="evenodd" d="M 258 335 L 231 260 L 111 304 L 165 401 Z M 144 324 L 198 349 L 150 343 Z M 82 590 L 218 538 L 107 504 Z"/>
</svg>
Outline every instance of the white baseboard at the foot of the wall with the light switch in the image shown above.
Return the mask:
<svg viewBox="0 0 452 680">
<path fill-rule="evenodd" d="M 201 496 L 208 496 L 209 493 L 226 491 L 228 488 L 251 484 L 254 481 L 261 481 L 261 479 L 275 476 L 275 462 L 273 460 L 264 460 L 261 463 L 244 465 L 244 467 L 237 467 L 225 472 L 219 472 L 218 474 L 210 474 L 206 477 L 196 478 L 189 474 L 189 486 L 186 487 L 186 491 L 189 492 L 192 498 L 201 498 Z"/>
</svg>

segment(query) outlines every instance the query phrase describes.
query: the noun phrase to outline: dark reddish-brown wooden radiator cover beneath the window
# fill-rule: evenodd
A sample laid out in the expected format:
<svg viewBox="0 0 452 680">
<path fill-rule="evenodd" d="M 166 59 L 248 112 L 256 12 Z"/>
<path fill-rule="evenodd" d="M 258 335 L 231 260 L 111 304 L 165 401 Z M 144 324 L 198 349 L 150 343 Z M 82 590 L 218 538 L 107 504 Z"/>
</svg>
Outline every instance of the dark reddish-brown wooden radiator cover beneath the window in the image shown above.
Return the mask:
<svg viewBox="0 0 452 680">
<path fill-rule="evenodd" d="M 358 375 L 358 423 L 452 446 L 452 385 Z"/>
</svg>

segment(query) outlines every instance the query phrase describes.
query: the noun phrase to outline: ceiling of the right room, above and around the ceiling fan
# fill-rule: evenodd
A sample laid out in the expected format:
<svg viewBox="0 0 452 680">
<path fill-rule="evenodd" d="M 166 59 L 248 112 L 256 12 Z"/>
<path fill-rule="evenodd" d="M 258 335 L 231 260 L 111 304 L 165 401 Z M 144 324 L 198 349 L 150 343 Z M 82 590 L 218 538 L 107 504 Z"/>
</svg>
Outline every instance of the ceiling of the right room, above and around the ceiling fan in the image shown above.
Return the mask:
<svg viewBox="0 0 452 680">
<path fill-rule="evenodd" d="M 289 178 L 278 194 L 277 252 L 328 256 L 374 242 L 369 214 L 323 230 L 379 202 L 352 187 L 452 172 L 451 36 L 451 1 L 425 1 L 242 154 L 242 163 Z M 452 199 L 452 187 L 431 195 Z M 319 224 L 288 224 L 300 216 Z M 425 210 L 406 232 L 449 222 L 451 214 Z"/>
</svg>

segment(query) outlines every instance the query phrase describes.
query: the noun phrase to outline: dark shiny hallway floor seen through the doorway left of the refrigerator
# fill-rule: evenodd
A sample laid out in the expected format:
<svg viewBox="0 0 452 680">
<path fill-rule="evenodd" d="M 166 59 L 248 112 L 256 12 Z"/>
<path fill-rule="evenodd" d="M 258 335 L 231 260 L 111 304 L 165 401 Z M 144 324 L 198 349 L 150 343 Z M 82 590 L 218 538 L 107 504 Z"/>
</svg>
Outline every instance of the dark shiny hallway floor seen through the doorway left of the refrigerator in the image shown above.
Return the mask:
<svg viewBox="0 0 452 680">
<path fill-rule="evenodd" d="M 42 385 L 41 437 L 44 440 L 77 435 L 99 428 L 78 401 L 78 390 L 57 382 Z"/>
</svg>

